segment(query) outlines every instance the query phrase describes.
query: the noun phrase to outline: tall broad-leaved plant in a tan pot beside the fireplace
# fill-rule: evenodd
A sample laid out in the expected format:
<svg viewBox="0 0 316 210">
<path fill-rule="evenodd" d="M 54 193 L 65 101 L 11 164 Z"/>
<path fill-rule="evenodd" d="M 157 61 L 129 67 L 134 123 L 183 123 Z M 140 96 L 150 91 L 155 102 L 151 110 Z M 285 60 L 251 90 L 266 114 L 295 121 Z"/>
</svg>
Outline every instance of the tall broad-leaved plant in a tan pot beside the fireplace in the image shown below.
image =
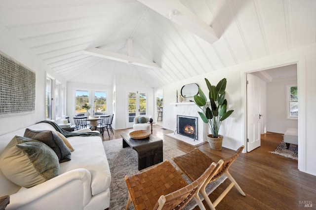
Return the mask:
<svg viewBox="0 0 316 210">
<path fill-rule="evenodd" d="M 223 136 L 218 135 L 221 123 L 228 118 L 234 110 L 227 111 L 227 100 L 225 99 L 226 78 L 218 82 L 216 87 L 211 85 L 205 78 L 207 88 L 209 90 L 209 100 L 205 97 L 203 91 L 198 87 L 198 95 L 194 96 L 195 104 L 202 110 L 198 111 L 199 116 L 208 126 L 212 134 L 207 135 L 208 142 L 212 149 L 221 150 Z"/>
</svg>

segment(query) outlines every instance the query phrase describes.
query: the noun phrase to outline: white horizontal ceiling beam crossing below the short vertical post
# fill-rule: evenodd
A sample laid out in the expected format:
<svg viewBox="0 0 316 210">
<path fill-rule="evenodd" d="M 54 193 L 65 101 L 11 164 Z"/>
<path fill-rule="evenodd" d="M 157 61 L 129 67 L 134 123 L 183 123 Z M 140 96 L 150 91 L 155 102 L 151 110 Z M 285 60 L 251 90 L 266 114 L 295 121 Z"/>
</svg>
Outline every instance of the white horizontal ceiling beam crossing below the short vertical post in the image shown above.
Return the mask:
<svg viewBox="0 0 316 210">
<path fill-rule="evenodd" d="M 99 49 L 96 47 L 86 49 L 83 51 L 83 53 L 88 54 L 88 55 L 101 57 L 101 58 L 114 60 L 114 61 L 119 61 L 119 62 L 123 62 L 123 63 L 127 63 L 127 64 L 133 64 L 133 65 L 137 65 L 137 66 L 141 66 L 141 67 L 147 67 L 147 68 L 151 68 L 151 69 L 161 69 L 161 67 L 154 62 L 145 61 L 145 60 L 142 60 L 140 58 L 135 58 L 135 57 L 128 56 L 128 55 L 124 55 L 124 54 L 120 54 L 120 53 L 116 53 L 116 52 L 111 52 L 111 51 Z"/>
</svg>

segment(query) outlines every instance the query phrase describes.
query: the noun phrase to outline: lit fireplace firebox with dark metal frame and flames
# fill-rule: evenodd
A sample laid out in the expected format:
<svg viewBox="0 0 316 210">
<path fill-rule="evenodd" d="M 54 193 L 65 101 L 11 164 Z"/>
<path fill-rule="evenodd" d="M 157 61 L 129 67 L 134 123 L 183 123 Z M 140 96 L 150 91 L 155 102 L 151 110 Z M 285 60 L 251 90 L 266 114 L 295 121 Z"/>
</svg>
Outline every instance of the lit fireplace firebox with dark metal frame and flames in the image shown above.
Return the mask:
<svg viewBox="0 0 316 210">
<path fill-rule="evenodd" d="M 197 117 L 177 115 L 177 134 L 197 140 Z"/>
</svg>

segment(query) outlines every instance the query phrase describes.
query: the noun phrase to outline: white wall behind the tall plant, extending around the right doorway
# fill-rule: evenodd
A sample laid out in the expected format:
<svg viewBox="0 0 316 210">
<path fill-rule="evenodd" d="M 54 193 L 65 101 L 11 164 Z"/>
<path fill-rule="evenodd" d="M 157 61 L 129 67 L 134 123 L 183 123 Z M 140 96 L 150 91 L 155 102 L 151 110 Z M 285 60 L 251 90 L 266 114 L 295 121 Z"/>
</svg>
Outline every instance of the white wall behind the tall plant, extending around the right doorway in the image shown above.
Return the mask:
<svg viewBox="0 0 316 210">
<path fill-rule="evenodd" d="M 163 127 L 173 130 L 174 121 L 173 105 L 176 102 L 176 90 L 181 89 L 185 84 L 197 83 L 204 92 L 207 92 L 204 77 L 211 83 L 227 78 L 227 101 L 229 109 L 235 111 L 230 118 L 222 123 L 220 133 L 224 135 L 223 146 L 236 150 L 241 144 L 245 144 L 245 74 L 265 70 L 278 66 L 297 63 L 298 66 L 298 87 L 301 106 L 299 107 L 299 170 L 316 175 L 316 44 L 300 49 L 290 50 L 278 55 L 269 56 L 252 62 L 240 64 L 225 70 L 209 72 L 191 79 L 163 86 L 164 93 L 164 115 Z M 304 103 L 305 102 L 305 103 Z M 305 161 L 306 160 L 306 161 Z"/>
</svg>

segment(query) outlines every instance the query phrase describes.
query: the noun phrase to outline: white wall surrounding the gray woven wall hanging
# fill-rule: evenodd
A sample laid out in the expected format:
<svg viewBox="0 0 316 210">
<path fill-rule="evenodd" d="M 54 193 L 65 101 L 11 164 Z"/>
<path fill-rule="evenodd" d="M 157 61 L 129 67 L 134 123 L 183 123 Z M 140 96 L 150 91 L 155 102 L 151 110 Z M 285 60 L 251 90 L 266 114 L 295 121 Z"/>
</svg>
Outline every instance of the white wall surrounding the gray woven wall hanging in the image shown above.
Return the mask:
<svg viewBox="0 0 316 210">
<path fill-rule="evenodd" d="M 46 72 L 65 87 L 66 82 L 2 25 L 0 25 L 0 51 L 36 72 L 35 113 L 9 117 L 0 115 L 0 135 L 2 135 L 45 120 Z"/>
</svg>

